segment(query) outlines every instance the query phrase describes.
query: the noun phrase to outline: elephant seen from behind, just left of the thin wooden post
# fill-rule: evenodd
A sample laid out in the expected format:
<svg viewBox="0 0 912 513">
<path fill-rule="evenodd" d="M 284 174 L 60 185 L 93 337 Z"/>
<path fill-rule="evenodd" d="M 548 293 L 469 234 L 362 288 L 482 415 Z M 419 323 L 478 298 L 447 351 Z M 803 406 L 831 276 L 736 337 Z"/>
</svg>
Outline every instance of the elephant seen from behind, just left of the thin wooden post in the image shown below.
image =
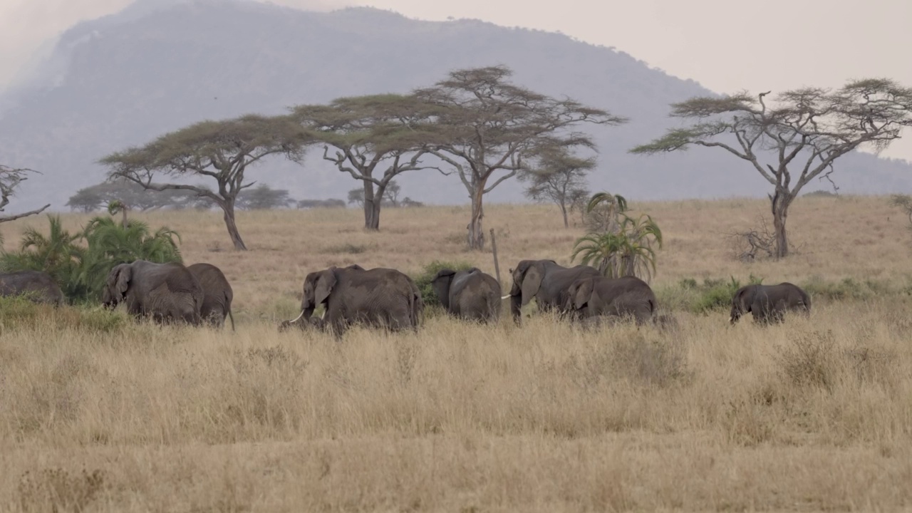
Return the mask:
<svg viewBox="0 0 912 513">
<path fill-rule="evenodd" d="M 430 286 L 443 308 L 456 317 L 491 323 L 501 317 L 501 284 L 478 267 L 440 269 Z"/>
</svg>

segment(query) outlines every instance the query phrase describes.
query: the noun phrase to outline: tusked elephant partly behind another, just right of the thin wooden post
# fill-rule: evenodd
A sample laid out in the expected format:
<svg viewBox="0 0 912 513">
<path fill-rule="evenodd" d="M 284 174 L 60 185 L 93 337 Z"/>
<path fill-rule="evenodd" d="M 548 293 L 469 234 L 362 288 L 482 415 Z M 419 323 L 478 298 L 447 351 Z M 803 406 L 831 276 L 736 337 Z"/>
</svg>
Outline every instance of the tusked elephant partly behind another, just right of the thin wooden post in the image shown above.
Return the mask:
<svg viewBox="0 0 912 513">
<path fill-rule="evenodd" d="M 594 267 L 563 267 L 554 260 L 521 260 L 510 272 L 513 274 L 510 311 L 517 324 L 520 322 L 520 309 L 532 298 L 535 298 L 539 311 L 563 311 L 567 288 L 573 282 L 584 277 L 601 276 Z"/>
</svg>

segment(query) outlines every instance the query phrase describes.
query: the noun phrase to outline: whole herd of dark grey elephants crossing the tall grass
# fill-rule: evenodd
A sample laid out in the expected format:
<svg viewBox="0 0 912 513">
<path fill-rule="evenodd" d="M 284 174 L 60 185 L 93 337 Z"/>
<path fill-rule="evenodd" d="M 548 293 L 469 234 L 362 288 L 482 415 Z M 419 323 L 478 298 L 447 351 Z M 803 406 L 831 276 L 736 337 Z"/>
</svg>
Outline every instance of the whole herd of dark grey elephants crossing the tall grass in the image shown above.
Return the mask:
<svg viewBox="0 0 912 513">
<path fill-rule="evenodd" d="M 452 316 L 485 323 L 500 319 L 502 301 L 510 298 L 513 320 L 532 299 L 539 311 L 554 311 L 572 321 L 594 326 L 617 319 L 665 325 L 657 313 L 656 295 L 637 277 L 608 278 L 594 267 L 563 267 L 554 260 L 522 260 L 510 269 L 513 287 L 502 296 L 497 279 L 476 267 L 442 269 L 431 281 L 440 304 Z M 26 294 L 32 300 L 58 305 L 64 296 L 57 282 L 40 271 L 0 274 L 0 295 Z M 160 323 L 210 324 L 222 328 L 231 319 L 233 291 L 221 269 L 212 264 L 183 266 L 137 260 L 111 269 L 101 292 L 105 308 L 120 303 L 136 318 Z M 314 316 L 323 306 L 320 317 Z M 329 267 L 304 280 L 301 314 L 285 320 L 291 327 L 331 330 L 336 337 L 353 324 L 389 330 L 418 330 L 424 302 L 420 289 L 396 269 L 365 269 L 358 265 Z M 786 311 L 810 314 L 811 298 L 791 283 L 749 285 L 731 298 L 731 323 L 750 312 L 758 322 L 782 321 Z"/>
</svg>

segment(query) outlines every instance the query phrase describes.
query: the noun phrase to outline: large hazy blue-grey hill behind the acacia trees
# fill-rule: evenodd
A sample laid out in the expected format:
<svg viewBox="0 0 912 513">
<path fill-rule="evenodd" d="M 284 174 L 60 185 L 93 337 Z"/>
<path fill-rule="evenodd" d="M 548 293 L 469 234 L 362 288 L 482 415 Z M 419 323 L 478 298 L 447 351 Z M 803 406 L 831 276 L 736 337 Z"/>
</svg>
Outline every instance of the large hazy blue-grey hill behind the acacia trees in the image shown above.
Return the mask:
<svg viewBox="0 0 912 513">
<path fill-rule="evenodd" d="M 246 112 L 280 113 L 344 95 L 408 92 L 452 68 L 505 64 L 517 83 L 628 116 L 619 128 L 586 127 L 600 148 L 590 182 L 632 199 L 762 195 L 747 164 L 708 150 L 658 157 L 627 154 L 675 122 L 668 104 L 711 94 L 614 48 L 560 34 L 474 20 L 416 21 L 372 8 L 304 12 L 243 0 L 141 0 L 117 15 L 80 23 L 57 42 L 30 85 L 0 100 L 0 162 L 44 176 L 17 202 L 63 210 L 79 187 L 98 183 L 98 157 L 194 121 Z M 762 87 L 762 84 L 758 84 Z M 904 161 L 850 155 L 838 162 L 844 193 L 912 189 Z M 297 199 L 346 197 L 355 183 L 322 162 L 267 162 L 252 178 Z M 409 173 L 402 195 L 435 204 L 467 202 L 455 177 Z M 812 184 L 809 190 L 825 188 Z M 514 181 L 488 201 L 523 201 Z"/>
</svg>

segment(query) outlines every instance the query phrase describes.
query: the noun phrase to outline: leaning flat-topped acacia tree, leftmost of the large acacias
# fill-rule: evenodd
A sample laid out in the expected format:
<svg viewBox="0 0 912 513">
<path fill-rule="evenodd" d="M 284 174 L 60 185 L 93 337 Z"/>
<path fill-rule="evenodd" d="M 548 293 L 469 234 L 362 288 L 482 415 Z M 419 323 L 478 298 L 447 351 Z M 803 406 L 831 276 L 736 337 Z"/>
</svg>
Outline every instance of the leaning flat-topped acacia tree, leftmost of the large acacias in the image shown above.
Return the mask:
<svg viewBox="0 0 912 513">
<path fill-rule="evenodd" d="M 109 166 L 109 179 L 124 178 L 152 191 L 192 191 L 198 197 L 211 199 L 222 209 L 234 249 L 245 250 L 247 247 L 234 222 L 237 195 L 254 184 L 245 182 L 244 173 L 249 166 L 270 155 L 285 155 L 301 162 L 309 141 L 306 131 L 287 116 L 248 114 L 231 120 L 195 123 L 166 133 L 145 146 L 111 153 L 100 162 Z M 208 177 L 217 188 L 153 182 L 160 176 Z"/>
</svg>

